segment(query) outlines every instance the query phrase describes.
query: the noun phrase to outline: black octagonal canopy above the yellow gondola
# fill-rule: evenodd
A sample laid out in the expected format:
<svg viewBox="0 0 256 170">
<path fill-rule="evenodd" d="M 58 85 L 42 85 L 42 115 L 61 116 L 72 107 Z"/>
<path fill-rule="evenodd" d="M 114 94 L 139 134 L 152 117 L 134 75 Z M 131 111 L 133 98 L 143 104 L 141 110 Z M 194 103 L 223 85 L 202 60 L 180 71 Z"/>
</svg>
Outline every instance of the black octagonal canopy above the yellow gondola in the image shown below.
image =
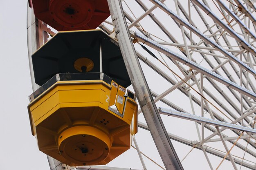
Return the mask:
<svg viewBox="0 0 256 170">
<path fill-rule="evenodd" d="M 43 86 L 58 73 L 81 73 L 74 68 L 74 62 L 81 57 L 93 61 L 90 73 L 99 72 L 100 44 L 103 73 L 128 87 L 131 82 L 119 46 L 101 30 L 57 33 L 32 55 L 36 84 Z"/>
</svg>

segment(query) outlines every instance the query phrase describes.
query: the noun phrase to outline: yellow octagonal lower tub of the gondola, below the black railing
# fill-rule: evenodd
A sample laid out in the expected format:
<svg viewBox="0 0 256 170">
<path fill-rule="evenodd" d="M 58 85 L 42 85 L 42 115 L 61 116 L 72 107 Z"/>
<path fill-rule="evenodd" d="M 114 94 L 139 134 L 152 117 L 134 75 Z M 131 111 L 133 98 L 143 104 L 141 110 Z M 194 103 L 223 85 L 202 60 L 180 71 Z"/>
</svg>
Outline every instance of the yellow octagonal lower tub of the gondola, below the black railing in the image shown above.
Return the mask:
<svg viewBox="0 0 256 170">
<path fill-rule="evenodd" d="M 125 90 L 122 86 L 118 86 L 117 94 L 124 97 Z M 119 111 L 123 113 L 121 117 L 108 109 L 110 93 L 110 85 L 101 81 L 61 81 L 33 100 L 28 109 L 33 126 L 32 133 L 36 135 L 39 150 L 70 166 L 81 166 L 84 163 L 106 164 L 128 150 L 131 136 L 137 132 L 137 103 L 130 97 L 124 97 L 119 105 L 121 109 Z M 78 130 L 78 126 L 84 128 Z M 89 131 L 95 135 L 88 134 L 87 128 L 94 128 L 93 132 Z M 69 132 L 69 135 L 64 135 L 63 132 Z M 98 132 L 105 135 L 100 135 Z M 105 140 L 107 136 L 110 143 Z M 69 141 L 70 146 L 62 146 L 60 139 Z M 83 148 L 82 150 L 74 148 L 76 141 L 79 141 L 77 147 Z M 91 148 L 91 144 L 88 143 L 93 143 L 95 147 Z M 97 146 L 102 147 L 96 150 Z M 91 148 L 90 152 L 89 148 Z M 85 153 L 87 149 L 89 154 L 95 153 L 97 161 L 95 159 L 93 162 L 87 157 Z M 109 150 L 109 154 L 101 161 L 100 155 L 103 150 Z M 72 153 L 72 158 L 67 157 L 65 153 L 67 155 Z"/>
</svg>

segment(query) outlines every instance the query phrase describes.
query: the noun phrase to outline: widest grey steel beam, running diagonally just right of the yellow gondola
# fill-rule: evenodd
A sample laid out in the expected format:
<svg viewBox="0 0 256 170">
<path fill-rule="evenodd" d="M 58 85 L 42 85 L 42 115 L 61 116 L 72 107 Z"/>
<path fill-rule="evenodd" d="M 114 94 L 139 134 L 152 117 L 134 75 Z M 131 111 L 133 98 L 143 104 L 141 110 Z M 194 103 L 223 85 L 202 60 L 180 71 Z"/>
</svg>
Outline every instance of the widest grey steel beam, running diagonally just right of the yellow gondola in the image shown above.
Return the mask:
<svg viewBox="0 0 256 170">
<path fill-rule="evenodd" d="M 141 70 L 128 26 L 125 22 L 121 0 L 108 0 L 108 6 L 132 86 L 164 166 L 166 170 L 183 170 Z"/>
</svg>

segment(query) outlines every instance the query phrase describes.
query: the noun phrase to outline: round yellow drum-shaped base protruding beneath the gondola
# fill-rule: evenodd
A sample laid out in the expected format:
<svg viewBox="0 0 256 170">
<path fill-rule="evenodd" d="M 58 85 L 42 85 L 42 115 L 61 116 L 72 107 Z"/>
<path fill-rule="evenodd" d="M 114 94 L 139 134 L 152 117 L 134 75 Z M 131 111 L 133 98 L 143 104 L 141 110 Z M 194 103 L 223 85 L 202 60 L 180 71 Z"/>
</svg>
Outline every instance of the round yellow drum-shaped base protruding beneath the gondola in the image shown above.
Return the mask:
<svg viewBox="0 0 256 170">
<path fill-rule="evenodd" d="M 60 154 L 78 165 L 103 161 L 108 157 L 110 146 L 108 134 L 92 126 L 74 126 L 58 137 Z"/>
</svg>

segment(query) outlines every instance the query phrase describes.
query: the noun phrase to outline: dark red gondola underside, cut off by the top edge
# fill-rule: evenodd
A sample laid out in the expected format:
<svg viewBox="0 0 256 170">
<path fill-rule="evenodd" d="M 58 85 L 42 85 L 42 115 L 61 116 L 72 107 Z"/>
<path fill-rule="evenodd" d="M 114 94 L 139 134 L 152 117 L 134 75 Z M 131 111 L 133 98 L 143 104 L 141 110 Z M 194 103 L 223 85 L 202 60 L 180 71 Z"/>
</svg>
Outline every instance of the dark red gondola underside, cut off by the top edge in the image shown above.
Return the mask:
<svg viewBox="0 0 256 170">
<path fill-rule="evenodd" d="M 95 29 L 110 16 L 107 0 L 29 0 L 36 17 L 57 31 Z"/>
</svg>

